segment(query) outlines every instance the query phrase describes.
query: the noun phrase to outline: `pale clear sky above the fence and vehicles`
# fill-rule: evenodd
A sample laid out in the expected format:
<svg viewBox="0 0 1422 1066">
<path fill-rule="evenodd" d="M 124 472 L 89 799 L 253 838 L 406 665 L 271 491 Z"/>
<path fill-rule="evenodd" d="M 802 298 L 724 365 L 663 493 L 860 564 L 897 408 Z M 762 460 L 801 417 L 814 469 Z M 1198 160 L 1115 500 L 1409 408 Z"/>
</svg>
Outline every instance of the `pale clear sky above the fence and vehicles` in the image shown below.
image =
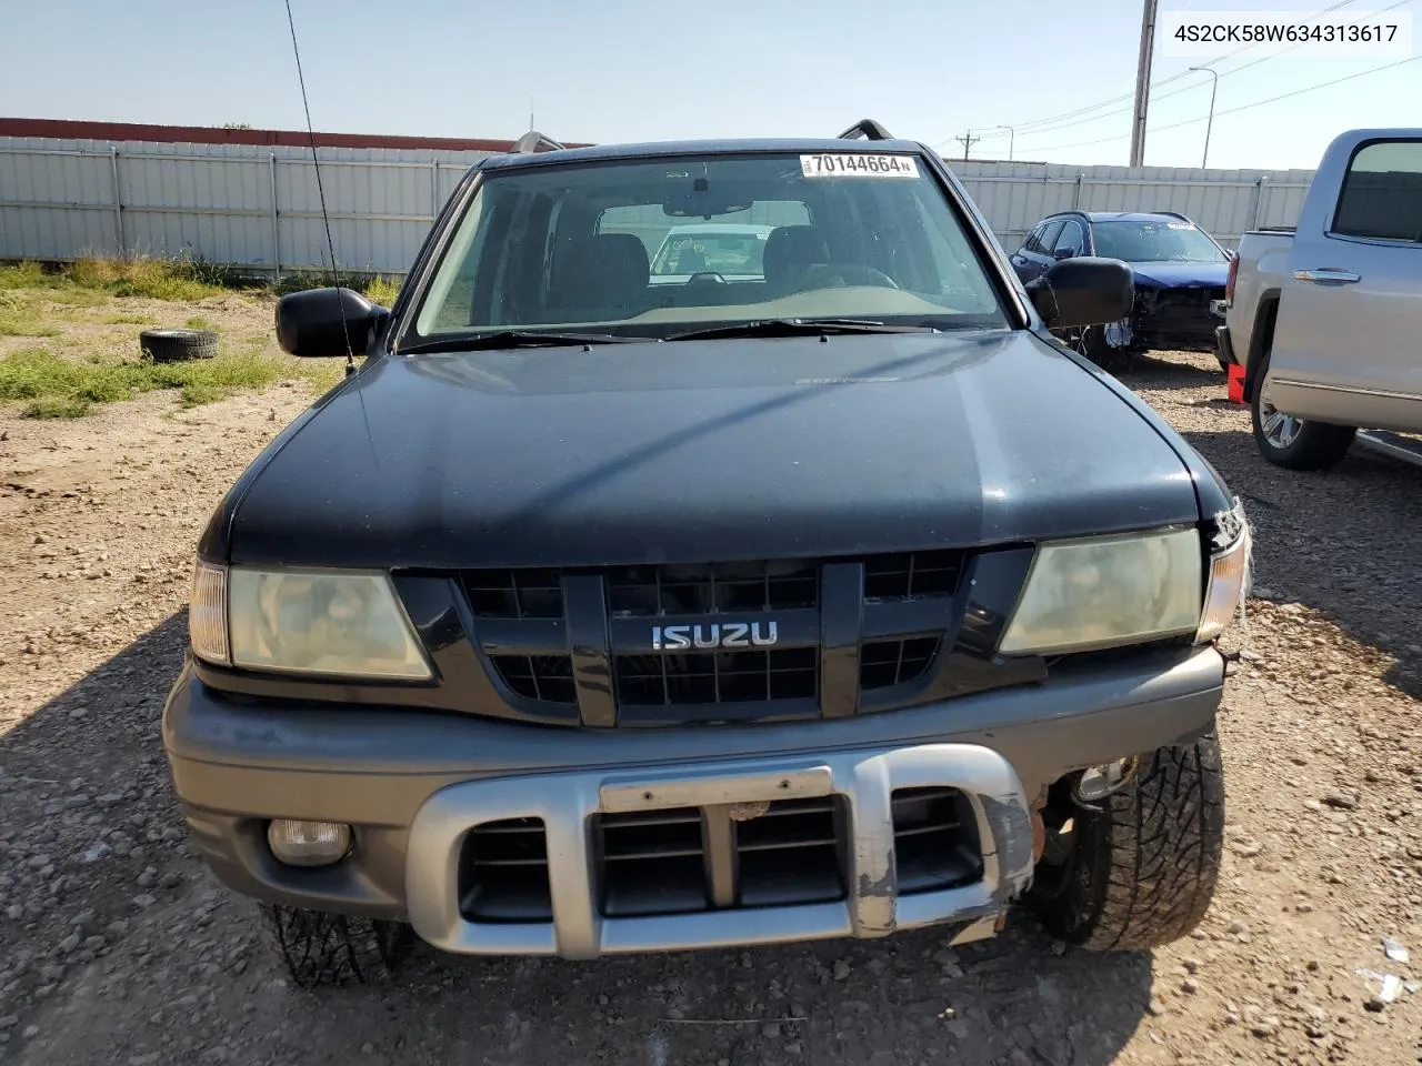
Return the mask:
<svg viewBox="0 0 1422 1066">
<path fill-rule="evenodd" d="M 11 0 L 20 9 L 20 0 Z M 1338 0 L 1160 0 L 1317 13 Z M 9 6 L 9 4 L 7 4 Z M 1125 163 L 1140 0 L 293 0 L 317 129 L 565 141 L 835 134 L 863 117 L 961 158 L 1017 126 L 1018 159 Z M 1422 0 L 1394 7 L 1422 23 Z M 0 114 L 301 128 L 283 0 L 46 0 L 3 17 Z M 1413 27 L 1406 54 L 1422 53 Z M 1227 55 L 1241 45 L 1219 45 Z M 1359 125 L 1422 125 L 1422 61 L 1247 107 L 1396 58 L 1307 48 L 1220 72 L 1212 166 L 1313 168 Z M 1146 163 L 1200 165 L 1210 57 L 1158 40 Z M 1246 64 L 1251 64 L 1246 68 Z M 1169 94 L 1169 95 L 1167 95 Z M 1098 107 L 1115 101 L 1109 107 Z M 1233 108 L 1246 108 L 1226 114 Z M 1163 126 L 1175 126 L 1163 129 Z M 988 135 L 974 158 L 1007 158 Z"/>
</svg>

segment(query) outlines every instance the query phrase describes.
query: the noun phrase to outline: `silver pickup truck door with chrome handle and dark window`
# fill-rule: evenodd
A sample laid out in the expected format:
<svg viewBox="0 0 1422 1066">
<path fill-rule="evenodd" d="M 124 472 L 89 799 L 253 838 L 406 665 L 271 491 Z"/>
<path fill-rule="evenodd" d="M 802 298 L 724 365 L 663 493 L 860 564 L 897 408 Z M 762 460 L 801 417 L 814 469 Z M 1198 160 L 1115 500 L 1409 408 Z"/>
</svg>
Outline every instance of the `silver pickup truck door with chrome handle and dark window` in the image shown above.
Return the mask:
<svg viewBox="0 0 1422 1066">
<path fill-rule="evenodd" d="M 1295 233 L 1284 286 L 1270 355 L 1276 405 L 1422 431 L 1422 136 L 1354 148 L 1332 217 Z"/>
</svg>

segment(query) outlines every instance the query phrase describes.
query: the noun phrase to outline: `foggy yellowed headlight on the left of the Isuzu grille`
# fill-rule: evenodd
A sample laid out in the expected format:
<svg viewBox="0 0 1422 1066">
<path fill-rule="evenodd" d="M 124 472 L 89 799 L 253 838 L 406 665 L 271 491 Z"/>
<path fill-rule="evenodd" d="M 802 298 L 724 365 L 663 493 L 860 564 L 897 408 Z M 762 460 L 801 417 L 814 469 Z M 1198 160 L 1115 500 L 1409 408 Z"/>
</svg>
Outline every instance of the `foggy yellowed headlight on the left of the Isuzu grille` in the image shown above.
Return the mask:
<svg viewBox="0 0 1422 1066">
<path fill-rule="evenodd" d="M 232 665 L 425 681 L 429 664 L 384 573 L 228 571 Z"/>
</svg>

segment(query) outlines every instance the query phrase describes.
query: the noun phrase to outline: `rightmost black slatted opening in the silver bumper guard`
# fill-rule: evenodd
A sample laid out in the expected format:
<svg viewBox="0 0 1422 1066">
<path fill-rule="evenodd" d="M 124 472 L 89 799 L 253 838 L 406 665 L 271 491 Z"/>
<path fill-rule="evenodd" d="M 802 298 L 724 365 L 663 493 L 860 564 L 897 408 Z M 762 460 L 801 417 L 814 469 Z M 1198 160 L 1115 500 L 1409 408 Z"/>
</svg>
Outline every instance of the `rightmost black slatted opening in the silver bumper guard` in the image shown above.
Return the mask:
<svg viewBox="0 0 1422 1066">
<path fill-rule="evenodd" d="M 931 893 L 983 877 L 977 822 L 957 789 L 896 789 L 893 850 L 899 893 Z"/>
</svg>

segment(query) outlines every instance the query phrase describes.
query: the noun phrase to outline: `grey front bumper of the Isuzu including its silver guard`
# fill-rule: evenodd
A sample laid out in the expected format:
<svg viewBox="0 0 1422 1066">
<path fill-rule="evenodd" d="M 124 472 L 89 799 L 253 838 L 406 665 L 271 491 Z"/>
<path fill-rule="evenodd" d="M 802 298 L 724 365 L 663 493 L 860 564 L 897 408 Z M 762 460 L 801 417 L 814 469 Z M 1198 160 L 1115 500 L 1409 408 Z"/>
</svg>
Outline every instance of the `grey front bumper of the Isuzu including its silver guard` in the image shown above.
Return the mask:
<svg viewBox="0 0 1422 1066">
<path fill-rule="evenodd" d="M 1041 685 L 846 719 L 701 729 L 538 728 L 412 709 L 272 705 L 183 671 L 164 743 L 192 839 L 233 890 L 273 903 L 408 920 L 468 954 L 602 954 L 879 937 L 964 922 L 990 935 L 1032 871 L 1031 804 L 1062 775 L 1189 741 L 1213 725 L 1214 648 L 1062 671 Z M 953 787 L 971 809 L 981 874 L 900 894 L 890 797 Z M 656 917 L 599 908 L 590 819 L 665 807 L 836 797 L 843 898 Z M 274 817 L 354 827 L 331 867 L 279 863 Z M 471 921 L 461 856 L 475 826 L 540 819 L 552 921 Z"/>
</svg>

